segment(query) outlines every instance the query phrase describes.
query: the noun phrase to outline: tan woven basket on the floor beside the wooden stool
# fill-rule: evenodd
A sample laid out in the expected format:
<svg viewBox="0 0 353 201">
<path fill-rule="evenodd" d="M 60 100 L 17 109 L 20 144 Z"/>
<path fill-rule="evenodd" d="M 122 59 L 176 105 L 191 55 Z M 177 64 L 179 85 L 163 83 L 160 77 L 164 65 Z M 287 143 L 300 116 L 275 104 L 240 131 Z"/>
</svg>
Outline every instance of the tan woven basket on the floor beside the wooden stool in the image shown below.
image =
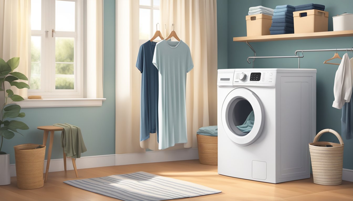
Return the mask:
<svg viewBox="0 0 353 201">
<path fill-rule="evenodd" d="M 35 149 L 41 146 L 41 148 Z M 17 187 L 19 189 L 36 189 L 44 185 L 44 145 L 20 144 L 13 147 L 16 159 Z"/>
</svg>

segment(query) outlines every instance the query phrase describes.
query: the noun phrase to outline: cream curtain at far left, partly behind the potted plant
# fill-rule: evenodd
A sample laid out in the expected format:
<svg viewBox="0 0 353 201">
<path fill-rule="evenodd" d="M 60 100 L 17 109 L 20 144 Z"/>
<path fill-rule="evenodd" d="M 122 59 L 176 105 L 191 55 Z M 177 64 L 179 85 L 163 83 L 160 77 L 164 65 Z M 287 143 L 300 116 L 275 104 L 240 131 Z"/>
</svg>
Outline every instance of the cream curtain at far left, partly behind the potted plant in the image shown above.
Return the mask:
<svg viewBox="0 0 353 201">
<path fill-rule="evenodd" d="M 0 0 L 0 57 L 5 61 L 20 57 L 20 63 L 14 71 L 27 77 L 31 34 L 30 8 L 30 0 Z M 15 94 L 27 98 L 26 88 L 11 89 Z"/>
</svg>

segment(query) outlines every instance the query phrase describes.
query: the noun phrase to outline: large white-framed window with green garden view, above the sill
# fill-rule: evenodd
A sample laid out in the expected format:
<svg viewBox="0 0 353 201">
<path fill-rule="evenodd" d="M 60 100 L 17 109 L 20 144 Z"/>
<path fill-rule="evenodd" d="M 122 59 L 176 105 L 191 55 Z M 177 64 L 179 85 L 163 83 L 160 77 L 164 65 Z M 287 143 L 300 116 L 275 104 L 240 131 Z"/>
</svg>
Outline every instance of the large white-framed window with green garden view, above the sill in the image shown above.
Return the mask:
<svg viewBox="0 0 353 201">
<path fill-rule="evenodd" d="M 29 95 L 83 98 L 83 1 L 31 0 Z"/>
</svg>

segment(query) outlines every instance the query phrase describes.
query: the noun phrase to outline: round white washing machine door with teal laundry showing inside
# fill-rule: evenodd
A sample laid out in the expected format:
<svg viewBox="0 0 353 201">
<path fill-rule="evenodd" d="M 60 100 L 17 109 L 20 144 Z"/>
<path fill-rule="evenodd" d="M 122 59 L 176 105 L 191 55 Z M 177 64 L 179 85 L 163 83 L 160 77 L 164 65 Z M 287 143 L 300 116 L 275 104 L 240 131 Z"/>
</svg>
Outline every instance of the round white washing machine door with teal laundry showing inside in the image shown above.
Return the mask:
<svg viewBox="0 0 353 201">
<path fill-rule="evenodd" d="M 259 138 L 263 125 L 264 109 L 255 93 L 236 88 L 227 95 L 222 106 L 222 126 L 229 139 L 248 146 Z"/>
</svg>

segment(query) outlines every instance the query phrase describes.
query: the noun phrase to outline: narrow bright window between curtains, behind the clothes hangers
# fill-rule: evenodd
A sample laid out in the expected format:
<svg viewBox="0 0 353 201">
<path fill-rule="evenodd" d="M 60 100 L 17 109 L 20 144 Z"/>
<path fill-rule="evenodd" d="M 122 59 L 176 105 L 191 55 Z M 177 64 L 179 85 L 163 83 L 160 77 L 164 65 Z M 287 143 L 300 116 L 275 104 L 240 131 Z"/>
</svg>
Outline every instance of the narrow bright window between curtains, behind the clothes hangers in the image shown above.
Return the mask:
<svg viewBox="0 0 353 201">
<path fill-rule="evenodd" d="M 139 39 L 140 44 L 152 38 L 156 32 L 156 24 L 160 23 L 159 1 L 139 0 Z M 162 26 L 158 27 L 161 30 Z"/>
</svg>

